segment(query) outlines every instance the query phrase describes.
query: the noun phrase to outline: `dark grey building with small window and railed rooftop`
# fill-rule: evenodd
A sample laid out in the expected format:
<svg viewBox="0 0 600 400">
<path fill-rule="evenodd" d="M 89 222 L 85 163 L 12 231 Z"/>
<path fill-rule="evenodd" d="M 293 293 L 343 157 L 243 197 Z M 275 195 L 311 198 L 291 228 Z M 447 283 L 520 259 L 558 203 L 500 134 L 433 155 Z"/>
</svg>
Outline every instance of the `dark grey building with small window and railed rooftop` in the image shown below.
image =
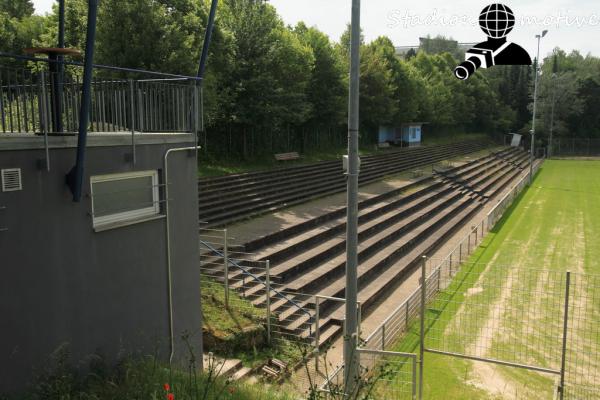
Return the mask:
<svg viewBox="0 0 600 400">
<path fill-rule="evenodd" d="M 34 83 L 19 87 L 46 89 Z M 165 362 L 171 355 L 177 360 L 187 355 L 184 333 L 202 348 L 197 154 L 188 118 L 193 108 L 182 106 L 184 98 L 168 103 L 153 92 L 164 117 L 152 127 L 156 110 L 146 107 L 149 91 L 140 87 L 132 96 L 135 104 L 115 93 L 107 94 L 104 105 L 100 92 L 92 97 L 94 132 L 85 147 L 80 202 L 73 201 L 65 178 L 78 145 L 69 121 L 64 118 L 66 132 L 51 134 L 46 96 L 2 87 L 0 394 L 22 389 L 64 344 L 74 365 L 92 354 L 110 362 L 158 351 Z M 18 97 L 23 93 L 35 99 L 29 121 L 23 119 L 29 100 Z M 122 113 L 109 98 L 122 103 Z M 69 104 L 64 115 L 73 111 Z M 183 111 L 171 112 L 169 104 Z M 20 105 L 20 114 L 9 115 L 9 105 Z M 177 119 L 169 113 L 181 114 L 178 122 L 185 124 L 167 126 Z M 19 129 L 7 122 L 9 116 L 19 119 Z M 115 131 L 102 132 L 104 122 Z"/>
</svg>

